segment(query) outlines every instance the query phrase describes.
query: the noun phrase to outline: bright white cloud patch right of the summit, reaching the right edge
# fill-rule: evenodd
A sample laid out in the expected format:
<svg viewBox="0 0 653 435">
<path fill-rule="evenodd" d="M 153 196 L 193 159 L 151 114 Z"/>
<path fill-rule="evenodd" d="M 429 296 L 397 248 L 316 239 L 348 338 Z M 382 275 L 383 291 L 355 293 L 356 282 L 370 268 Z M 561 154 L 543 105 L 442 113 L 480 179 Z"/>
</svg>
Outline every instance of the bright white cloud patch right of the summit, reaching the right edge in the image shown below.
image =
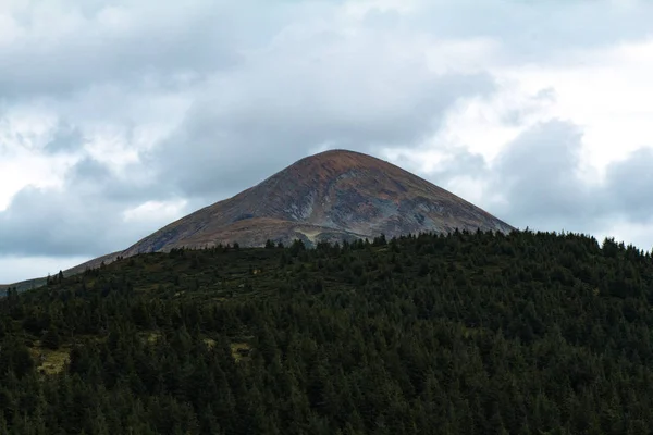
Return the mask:
<svg viewBox="0 0 653 435">
<path fill-rule="evenodd" d="M 653 147 L 653 84 L 649 78 L 653 76 L 653 39 L 575 49 L 566 55 L 574 62 L 489 65 L 500 84 L 497 91 L 454 104 L 445 114 L 443 128 L 417 151 L 420 169 L 436 171 L 447 150 L 452 154 L 456 149 L 479 153 L 492 165 L 507 144 L 535 124 L 554 119 L 582 128 L 576 172 L 587 185 L 601 185 L 611 163 Z M 478 174 L 469 174 L 465 183 L 476 177 Z M 491 207 L 490 201 L 480 203 Z"/>
</svg>

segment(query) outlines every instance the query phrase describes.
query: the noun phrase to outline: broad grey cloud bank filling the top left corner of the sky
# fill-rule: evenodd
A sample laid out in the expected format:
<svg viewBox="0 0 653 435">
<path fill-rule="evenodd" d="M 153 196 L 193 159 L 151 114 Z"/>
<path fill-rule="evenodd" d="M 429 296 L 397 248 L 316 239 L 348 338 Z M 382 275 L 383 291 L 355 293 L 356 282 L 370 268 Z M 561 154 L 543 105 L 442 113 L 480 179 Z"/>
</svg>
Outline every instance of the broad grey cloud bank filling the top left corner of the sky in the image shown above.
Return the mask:
<svg viewBox="0 0 653 435">
<path fill-rule="evenodd" d="M 26 36 L 0 45 L 0 95 L 64 98 L 102 85 L 131 92 L 184 90 L 218 71 L 238 70 L 244 53 L 260 50 L 286 27 L 330 16 L 337 7 L 322 1 L 61 0 L 51 4 L 47 18 L 42 7 L 9 10 Z"/>
</svg>

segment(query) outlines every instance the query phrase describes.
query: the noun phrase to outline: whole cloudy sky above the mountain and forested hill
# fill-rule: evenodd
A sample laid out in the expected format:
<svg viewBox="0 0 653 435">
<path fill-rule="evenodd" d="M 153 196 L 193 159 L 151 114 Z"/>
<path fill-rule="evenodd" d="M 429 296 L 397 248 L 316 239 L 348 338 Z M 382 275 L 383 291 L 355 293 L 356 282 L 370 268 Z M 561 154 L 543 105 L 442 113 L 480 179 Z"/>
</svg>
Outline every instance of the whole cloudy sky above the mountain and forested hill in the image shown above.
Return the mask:
<svg viewBox="0 0 653 435">
<path fill-rule="evenodd" d="M 2 0 L 0 283 L 330 148 L 653 246 L 653 2 Z"/>
</svg>

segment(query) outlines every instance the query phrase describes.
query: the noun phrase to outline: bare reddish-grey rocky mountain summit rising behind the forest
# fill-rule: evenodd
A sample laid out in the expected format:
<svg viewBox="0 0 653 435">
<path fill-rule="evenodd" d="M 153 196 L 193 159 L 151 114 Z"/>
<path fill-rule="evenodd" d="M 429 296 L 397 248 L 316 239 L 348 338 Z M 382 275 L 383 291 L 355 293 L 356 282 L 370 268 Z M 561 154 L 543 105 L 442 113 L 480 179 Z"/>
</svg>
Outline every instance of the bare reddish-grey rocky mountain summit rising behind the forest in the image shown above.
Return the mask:
<svg viewBox="0 0 653 435">
<path fill-rule="evenodd" d="M 268 239 L 386 237 L 455 228 L 510 232 L 510 225 L 433 184 L 377 158 L 326 151 L 299 160 L 233 198 L 201 209 L 123 252 L 262 246 Z"/>
</svg>

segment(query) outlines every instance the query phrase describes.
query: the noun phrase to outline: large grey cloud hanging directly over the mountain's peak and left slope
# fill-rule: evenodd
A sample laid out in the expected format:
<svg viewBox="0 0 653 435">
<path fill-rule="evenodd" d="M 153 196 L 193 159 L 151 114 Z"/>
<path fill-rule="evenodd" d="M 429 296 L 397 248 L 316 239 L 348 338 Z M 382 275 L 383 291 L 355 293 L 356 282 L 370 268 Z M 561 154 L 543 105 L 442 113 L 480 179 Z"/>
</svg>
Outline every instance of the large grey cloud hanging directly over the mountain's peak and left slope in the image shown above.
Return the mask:
<svg viewBox="0 0 653 435">
<path fill-rule="evenodd" d="M 401 62 L 362 52 L 297 63 L 288 53 L 294 50 L 283 47 L 248 74 L 215 79 L 149 162 L 187 196 L 235 191 L 311 149 L 370 151 L 418 142 L 459 98 L 494 89 L 489 75 L 433 76 L 417 61 L 406 74 Z M 313 55 L 328 52 L 316 49 Z"/>
</svg>

